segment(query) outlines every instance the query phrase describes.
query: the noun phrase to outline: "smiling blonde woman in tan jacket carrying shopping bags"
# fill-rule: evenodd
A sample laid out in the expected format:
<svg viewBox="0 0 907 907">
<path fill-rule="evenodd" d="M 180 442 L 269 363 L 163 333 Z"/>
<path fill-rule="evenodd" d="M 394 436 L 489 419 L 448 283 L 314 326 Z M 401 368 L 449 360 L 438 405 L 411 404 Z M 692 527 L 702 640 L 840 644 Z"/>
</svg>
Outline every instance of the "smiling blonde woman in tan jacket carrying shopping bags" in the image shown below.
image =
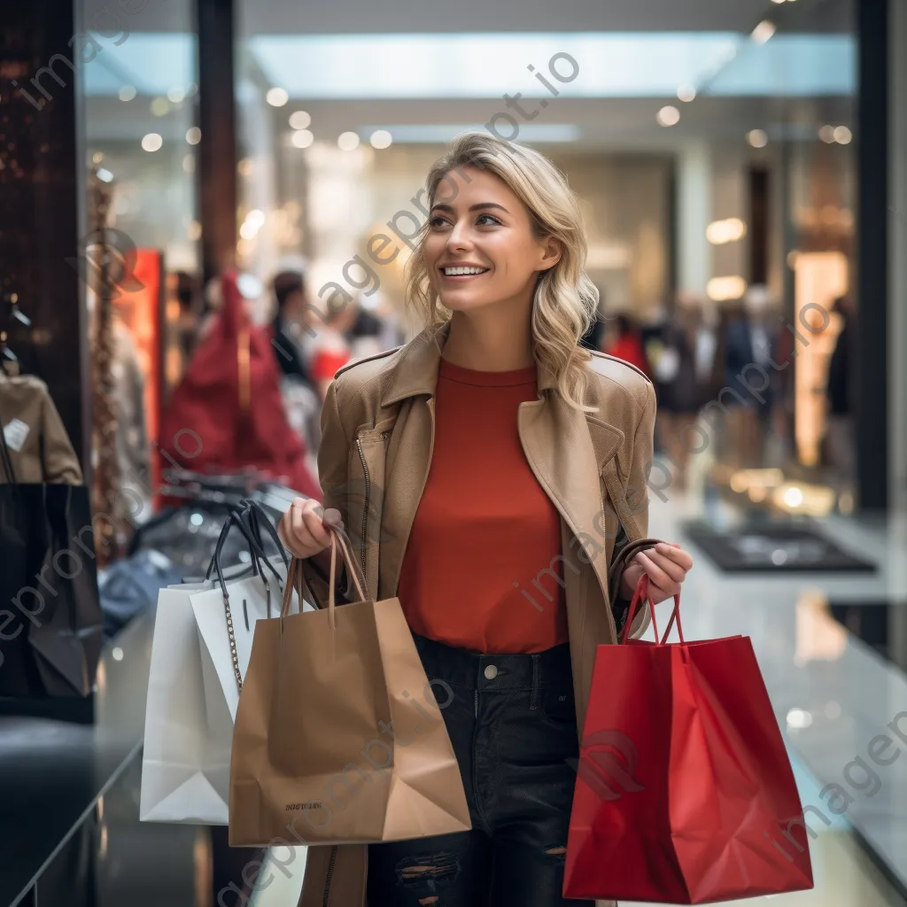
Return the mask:
<svg viewBox="0 0 907 907">
<path fill-rule="evenodd" d="M 555 907 L 596 646 L 644 572 L 664 600 L 692 561 L 644 540 L 652 388 L 578 344 L 596 291 L 561 172 L 466 134 L 427 188 L 409 297 L 429 327 L 336 375 L 327 510 L 297 500 L 281 534 L 319 603 L 323 519 L 353 535 L 369 595 L 400 599 L 426 674 L 455 694 L 473 829 L 371 845 L 367 874 L 364 846 L 310 848 L 300 903 Z"/>
</svg>

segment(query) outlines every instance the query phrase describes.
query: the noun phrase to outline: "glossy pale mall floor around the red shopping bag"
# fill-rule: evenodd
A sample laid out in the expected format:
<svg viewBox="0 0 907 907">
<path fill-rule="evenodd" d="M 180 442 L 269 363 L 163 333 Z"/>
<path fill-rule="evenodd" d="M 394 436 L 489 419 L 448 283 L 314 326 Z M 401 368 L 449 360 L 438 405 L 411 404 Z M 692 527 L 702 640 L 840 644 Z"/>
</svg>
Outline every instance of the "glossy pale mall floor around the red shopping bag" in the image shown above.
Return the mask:
<svg viewBox="0 0 907 907">
<path fill-rule="evenodd" d="M 679 523 L 702 512 L 697 498 L 681 500 L 675 495 L 667 503 L 653 500 L 649 534 L 683 541 Z M 731 512 L 722 512 L 733 518 Z M 820 832 L 811 843 L 812 892 L 758 898 L 748 904 L 887 907 L 904 903 L 856 844 L 849 824 L 907 886 L 907 740 L 889 732 L 892 747 L 885 755 L 893 756 L 895 746 L 900 753 L 889 766 L 877 766 L 867 756 L 873 738 L 901 713 L 900 727 L 907 736 L 907 678 L 849 636 L 824 613 L 823 601 L 828 595 L 843 600 L 900 598 L 905 601 L 900 624 L 907 626 L 907 520 L 887 526 L 832 520 L 826 529 L 844 547 L 879 561 L 879 573 L 871 578 L 828 574 L 740 578 L 717 571 L 690 546 L 696 565 L 683 596 L 686 636 L 744 634 L 753 640 L 794 757 L 803 804 L 822 809 L 834 820 L 827 828 L 817 817 L 810 822 Z M 907 629 L 903 632 L 907 639 Z M 854 763 L 856 756 L 862 756 L 863 766 L 874 777 Z M 832 783 L 853 798 L 840 818 L 831 814 L 828 796 L 821 793 L 823 785 Z M 297 860 L 294 869 L 301 866 Z M 274 881 L 259 892 L 255 905 L 293 907 L 300 885 L 301 876 L 288 880 L 274 873 Z"/>
</svg>

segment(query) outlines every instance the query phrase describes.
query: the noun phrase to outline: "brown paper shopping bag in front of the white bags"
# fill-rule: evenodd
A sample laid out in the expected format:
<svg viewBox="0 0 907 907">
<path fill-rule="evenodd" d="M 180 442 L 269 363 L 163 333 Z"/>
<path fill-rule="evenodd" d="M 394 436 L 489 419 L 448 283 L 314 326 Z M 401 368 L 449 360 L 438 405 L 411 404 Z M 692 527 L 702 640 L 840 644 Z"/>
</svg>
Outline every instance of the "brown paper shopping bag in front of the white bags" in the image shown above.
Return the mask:
<svg viewBox="0 0 907 907">
<path fill-rule="evenodd" d="M 336 530 L 331 541 L 327 610 L 288 614 L 301 584 L 294 559 L 281 616 L 255 627 L 230 763 L 234 847 L 371 844 L 472 827 L 439 687 L 400 602 L 364 600 L 349 541 Z M 363 599 L 340 608 L 338 551 Z"/>
</svg>

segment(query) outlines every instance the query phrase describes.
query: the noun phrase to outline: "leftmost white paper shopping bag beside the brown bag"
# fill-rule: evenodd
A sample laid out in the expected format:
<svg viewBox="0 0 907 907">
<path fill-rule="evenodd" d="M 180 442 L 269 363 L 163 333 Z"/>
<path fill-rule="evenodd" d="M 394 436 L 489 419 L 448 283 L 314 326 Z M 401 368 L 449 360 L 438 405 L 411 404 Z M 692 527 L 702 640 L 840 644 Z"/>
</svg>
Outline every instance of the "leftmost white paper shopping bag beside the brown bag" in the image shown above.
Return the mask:
<svg viewBox="0 0 907 907">
<path fill-rule="evenodd" d="M 286 568 L 279 558 L 269 559 L 281 576 Z M 225 571 L 227 576 L 238 571 Z M 271 600 L 279 608 L 278 580 L 267 568 Z M 267 611 L 266 583 L 249 571 L 239 571 L 226 580 L 233 596 L 245 595 L 253 610 Z M 239 591 L 235 589 L 239 589 Z M 200 629 L 193 598 L 210 593 L 219 602 L 220 621 L 226 649 L 219 649 L 217 618 L 207 604 L 199 607 L 205 624 Z M 276 596 L 276 599 L 275 599 Z M 249 601 L 251 600 L 251 601 Z M 247 609 L 249 608 L 247 604 Z M 297 607 L 297 603 L 295 605 Z M 257 610 L 258 609 L 258 610 Z M 239 623 L 245 631 L 245 617 L 239 600 Z M 203 641 L 207 632 L 209 641 Z M 241 670 L 249 663 L 249 652 L 240 656 Z M 226 825 L 229 801 L 229 759 L 233 737 L 233 716 L 221 686 L 220 676 L 232 657 L 223 591 L 219 580 L 185 583 L 162 589 L 151 644 L 151 673 L 145 708 L 145 746 L 141 765 L 140 819 L 143 822 L 173 822 Z M 226 676 L 226 675 L 225 675 Z M 233 679 L 236 688 L 235 677 Z"/>
</svg>

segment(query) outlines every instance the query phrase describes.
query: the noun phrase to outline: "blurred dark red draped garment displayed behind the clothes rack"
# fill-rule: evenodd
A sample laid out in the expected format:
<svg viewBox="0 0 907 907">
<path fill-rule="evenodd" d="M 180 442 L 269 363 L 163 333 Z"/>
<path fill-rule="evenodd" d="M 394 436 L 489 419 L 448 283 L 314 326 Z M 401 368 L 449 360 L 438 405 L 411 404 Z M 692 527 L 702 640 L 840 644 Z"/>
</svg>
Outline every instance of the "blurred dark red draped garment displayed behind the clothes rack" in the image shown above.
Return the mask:
<svg viewBox="0 0 907 907">
<path fill-rule="evenodd" d="M 171 460 L 195 473 L 251 467 L 320 501 L 303 442 L 287 422 L 268 334 L 251 323 L 235 274 L 223 279 L 223 297 L 164 413 L 163 468 Z"/>
</svg>

